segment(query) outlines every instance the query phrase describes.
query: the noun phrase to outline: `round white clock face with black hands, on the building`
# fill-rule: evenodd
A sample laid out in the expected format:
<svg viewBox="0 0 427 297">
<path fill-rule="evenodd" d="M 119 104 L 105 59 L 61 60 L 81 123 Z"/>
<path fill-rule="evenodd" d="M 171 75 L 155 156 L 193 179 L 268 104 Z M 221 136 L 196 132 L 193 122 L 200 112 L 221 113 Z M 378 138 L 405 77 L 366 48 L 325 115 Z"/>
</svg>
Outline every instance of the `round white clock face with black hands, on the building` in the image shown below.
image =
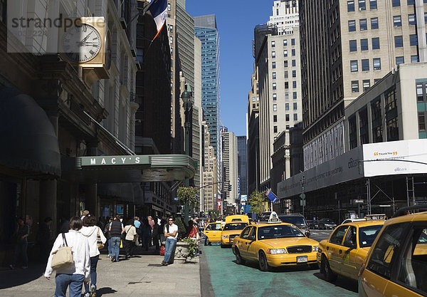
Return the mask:
<svg viewBox="0 0 427 297">
<path fill-rule="evenodd" d="M 68 29 L 62 38 L 63 53 L 72 61 L 88 62 L 95 58 L 101 49 L 100 33 L 95 27 L 81 24 Z"/>
</svg>

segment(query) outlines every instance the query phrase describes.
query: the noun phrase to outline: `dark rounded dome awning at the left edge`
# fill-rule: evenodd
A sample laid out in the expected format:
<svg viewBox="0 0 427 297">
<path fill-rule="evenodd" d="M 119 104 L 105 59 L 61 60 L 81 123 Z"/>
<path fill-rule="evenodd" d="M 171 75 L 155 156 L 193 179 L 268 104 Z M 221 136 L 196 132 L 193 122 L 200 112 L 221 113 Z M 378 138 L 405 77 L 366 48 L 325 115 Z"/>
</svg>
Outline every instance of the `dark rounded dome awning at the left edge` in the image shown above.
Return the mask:
<svg viewBox="0 0 427 297">
<path fill-rule="evenodd" d="M 0 90 L 0 167 L 27 177 L 59 177 L 58 138 L 45 111 L 28 95 Z"/>
</svg>

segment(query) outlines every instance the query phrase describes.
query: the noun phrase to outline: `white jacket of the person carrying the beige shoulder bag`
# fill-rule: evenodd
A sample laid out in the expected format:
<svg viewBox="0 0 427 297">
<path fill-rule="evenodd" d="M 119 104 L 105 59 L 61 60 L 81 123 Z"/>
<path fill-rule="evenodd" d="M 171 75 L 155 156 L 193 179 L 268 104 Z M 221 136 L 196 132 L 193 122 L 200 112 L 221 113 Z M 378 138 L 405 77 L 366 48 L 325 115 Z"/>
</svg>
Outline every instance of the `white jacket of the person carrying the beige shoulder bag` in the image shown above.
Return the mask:
<svg viewBox="0 0 427 297">
<path fill-rule="evenodd" d="M 68 246 L 71 246 L 71 250 L 73 251 L 74 265 L 65 267 L 63 269 L 58 269 L 56 274 L 83 274 L 83 276 L 85 276 L 85 281 L 89 281 L 90 254 L 88 239 L 83 236 L 80 231 L 75 230 L 70 230 L 68 233 L 65 233 L 65 239 L 67 240 Z M 62 234 L 59 234 L 53 243 L 53 248 L 51 254 L 49 255 L 44 276 L 51 277 L 53 271 L 51 266 L 53 253 L 56 253 L 56 251 L 58 251 L 61 246 L 63 246 L 63 237 Z"/>
</svg>

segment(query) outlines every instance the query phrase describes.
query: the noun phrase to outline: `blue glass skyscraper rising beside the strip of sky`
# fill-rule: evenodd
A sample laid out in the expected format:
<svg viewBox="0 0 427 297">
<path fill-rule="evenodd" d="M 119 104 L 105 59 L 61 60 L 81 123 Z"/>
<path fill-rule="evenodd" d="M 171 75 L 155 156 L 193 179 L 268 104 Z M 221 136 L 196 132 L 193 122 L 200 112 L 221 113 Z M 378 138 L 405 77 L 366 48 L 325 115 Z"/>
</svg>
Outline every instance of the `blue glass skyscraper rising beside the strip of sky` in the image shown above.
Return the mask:
<svg viewBox="0 0 427 297">
<path fill-rule="evenodd" d="M 194 35 L 201 41 L 201 105 L 218 158 L 219 135 L 219 34 L 214 14 L 194 17 Z"/>
</svg>

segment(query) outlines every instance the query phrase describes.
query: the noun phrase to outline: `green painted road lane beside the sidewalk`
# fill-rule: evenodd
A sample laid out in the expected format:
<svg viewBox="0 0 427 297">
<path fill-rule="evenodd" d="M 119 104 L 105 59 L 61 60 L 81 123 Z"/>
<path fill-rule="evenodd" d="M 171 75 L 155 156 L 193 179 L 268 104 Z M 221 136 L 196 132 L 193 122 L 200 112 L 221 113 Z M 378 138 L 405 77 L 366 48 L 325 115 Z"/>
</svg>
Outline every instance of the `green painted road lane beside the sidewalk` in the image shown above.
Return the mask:
<svg viewBox="0 0 427 297">
<path fill-rule="evenodd" d="M 322 279 L 319 269 L 308 266 L 263 272 L 258 264 L 236 264 L 231 249 L 203 247 L 216 297 L 227 296 L 357 296 L 357 282 L 339 277 L 335 283 Z"/>
</svg>

